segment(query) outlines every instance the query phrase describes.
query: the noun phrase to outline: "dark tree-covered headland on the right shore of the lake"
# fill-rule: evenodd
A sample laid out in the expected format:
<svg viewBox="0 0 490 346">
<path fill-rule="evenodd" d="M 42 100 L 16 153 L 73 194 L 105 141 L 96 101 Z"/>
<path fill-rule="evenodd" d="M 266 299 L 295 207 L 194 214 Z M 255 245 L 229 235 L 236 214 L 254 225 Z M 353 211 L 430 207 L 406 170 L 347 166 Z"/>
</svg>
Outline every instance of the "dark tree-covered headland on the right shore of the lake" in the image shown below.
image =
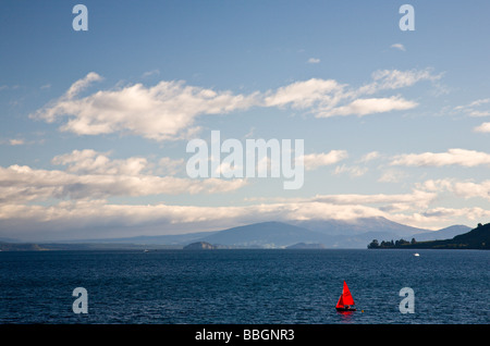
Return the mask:
<svg viewBox="0 0 490 346">
<path fill-rule="evenodd" d="M 373 239 L 368 249 L 490 249 L 490 223 L 478 226 L 468 233 L 460 234 L 452 239 L 445 240 L 430 240 L 417 242 L 415 238 L 412 242 L 400 239 L 396 242 L 381 242 Z"/>
</svg>

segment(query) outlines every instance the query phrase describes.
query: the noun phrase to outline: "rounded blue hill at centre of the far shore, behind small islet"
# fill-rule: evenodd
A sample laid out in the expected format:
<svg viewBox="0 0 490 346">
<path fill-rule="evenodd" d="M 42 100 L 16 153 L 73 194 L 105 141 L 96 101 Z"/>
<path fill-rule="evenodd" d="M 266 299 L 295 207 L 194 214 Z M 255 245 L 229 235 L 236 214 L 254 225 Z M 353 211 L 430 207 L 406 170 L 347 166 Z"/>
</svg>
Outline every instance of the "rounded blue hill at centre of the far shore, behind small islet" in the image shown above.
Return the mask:
<svg viewBox="0 0 490 346">
<path fill-rule="evenodd" d="M 285 247 L 296 243 L 330 243 L 328 235 L 282 222 L 261 222 L 217 232 L 199 239 L 236 247 Z"/>
</svg>

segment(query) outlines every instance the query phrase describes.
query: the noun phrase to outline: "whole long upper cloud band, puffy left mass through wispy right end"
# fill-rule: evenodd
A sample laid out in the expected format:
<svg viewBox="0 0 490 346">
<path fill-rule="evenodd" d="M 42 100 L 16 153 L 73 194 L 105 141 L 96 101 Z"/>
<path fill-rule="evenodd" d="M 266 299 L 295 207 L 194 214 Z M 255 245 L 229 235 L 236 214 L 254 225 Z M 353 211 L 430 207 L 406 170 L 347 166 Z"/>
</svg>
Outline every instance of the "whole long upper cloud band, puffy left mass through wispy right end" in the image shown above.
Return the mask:
<svg viewBox="0 0 490 346">
<path fill-rule="evenodd" d="M 381 70 L 372 74 L 372 82 L 358 88 L 334 79 L 311 78 L 248 95 L 189 86 L 183 81 L 161 81 L 154 86 L 138 83 L 83 97 L 83 90 L 102 79 L 90 72 L 30 116 L 48 123 L 62 122 L 61 131 L 78 135 L 130 133 L 155 140 L 175 140 L 197 133 L 199 127 L 195 122 L 199 116 L 228 114 L 252 107 L 291 107 L 318 118 L 407 110 L 417 103 L 400 96 L 363 96 L 440 77 L 430 70 Z"/>
</svg>

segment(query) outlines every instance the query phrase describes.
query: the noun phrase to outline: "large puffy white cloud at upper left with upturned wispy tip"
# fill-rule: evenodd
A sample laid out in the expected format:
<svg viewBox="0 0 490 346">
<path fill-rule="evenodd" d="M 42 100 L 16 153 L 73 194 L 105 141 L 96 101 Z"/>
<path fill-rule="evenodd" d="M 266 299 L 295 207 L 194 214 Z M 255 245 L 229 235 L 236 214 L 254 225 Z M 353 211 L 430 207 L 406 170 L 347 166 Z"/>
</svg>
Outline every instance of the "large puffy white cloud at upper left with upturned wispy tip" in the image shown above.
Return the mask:
<svg viewBox="0 0 490 346">
<path fill-rule="evenodd" d="M 74 98 L 97 79 L 96 73 L 88 74 L 73 84 L 65 96 L 32 116 L 48 122 L 68 118 L 61 129 L 79 135 L 128 131 L 150 139 L 170 140 L 195 131 L 194 120 L 200 114 L 222 114 L 256 103 L 254 95 L 234 96 L 230 91 L 185 86 L 183 82 L 160 82 L 148 88 L 135 84 Z"/>
</svg>

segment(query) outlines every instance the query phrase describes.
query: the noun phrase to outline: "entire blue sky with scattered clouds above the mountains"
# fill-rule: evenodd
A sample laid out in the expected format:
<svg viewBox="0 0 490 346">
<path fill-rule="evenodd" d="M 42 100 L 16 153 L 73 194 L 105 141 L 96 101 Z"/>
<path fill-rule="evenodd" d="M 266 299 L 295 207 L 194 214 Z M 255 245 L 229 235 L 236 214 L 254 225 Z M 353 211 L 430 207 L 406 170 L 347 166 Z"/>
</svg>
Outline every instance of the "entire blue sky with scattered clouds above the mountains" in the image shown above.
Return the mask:
<svg viewBox="0 0 490 346">
<path fill-rule="evenodd" d="M 1 1 L 0 238 L 487 223 L 489 11 L 480 0 Z M 193 140 L 210 166 L 229 156 L 211 153 L 212 132 L 244 161 L 247 140 L 302 140 L 302 186 L 285 189 L 283 171 L 192 176 Z"/>
</svg>

